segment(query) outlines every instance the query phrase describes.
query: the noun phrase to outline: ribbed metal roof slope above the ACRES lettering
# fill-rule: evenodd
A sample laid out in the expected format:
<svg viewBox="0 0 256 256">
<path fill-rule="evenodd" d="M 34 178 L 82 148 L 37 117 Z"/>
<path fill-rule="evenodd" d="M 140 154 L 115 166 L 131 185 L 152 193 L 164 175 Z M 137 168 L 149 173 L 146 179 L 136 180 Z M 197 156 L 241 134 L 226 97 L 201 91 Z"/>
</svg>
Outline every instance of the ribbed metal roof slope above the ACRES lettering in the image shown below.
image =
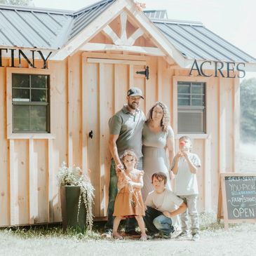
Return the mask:
<svg viewBox="0 0 256 256">
<path fill-rule="evenodd" d="M 152 20 L 152 22 L 168 41 L 180 50 L 184 58 L 231 62 L 256 61 L 243 50 L 211 32 L 201 22 L 177 20 Z"/>
</svg>

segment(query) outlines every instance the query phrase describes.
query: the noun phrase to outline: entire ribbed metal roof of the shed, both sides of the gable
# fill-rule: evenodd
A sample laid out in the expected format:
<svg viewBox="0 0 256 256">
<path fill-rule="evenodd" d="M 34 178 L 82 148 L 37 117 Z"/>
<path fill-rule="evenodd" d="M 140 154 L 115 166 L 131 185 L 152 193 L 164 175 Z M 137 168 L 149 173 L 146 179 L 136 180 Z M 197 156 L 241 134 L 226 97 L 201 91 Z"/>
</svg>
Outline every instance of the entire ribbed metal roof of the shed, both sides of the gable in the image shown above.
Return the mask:
<svg viewBox="0 0 256 256">
<path fill-rule="evenodd" d="M 0 5 L 0 46 L 58 50 L 116 0 L 102 0 L 79 11 Z M 167 13 L 144 11 L 184 58 L 256 62 L 201 22 L 168 20 Z"/>
</svg>

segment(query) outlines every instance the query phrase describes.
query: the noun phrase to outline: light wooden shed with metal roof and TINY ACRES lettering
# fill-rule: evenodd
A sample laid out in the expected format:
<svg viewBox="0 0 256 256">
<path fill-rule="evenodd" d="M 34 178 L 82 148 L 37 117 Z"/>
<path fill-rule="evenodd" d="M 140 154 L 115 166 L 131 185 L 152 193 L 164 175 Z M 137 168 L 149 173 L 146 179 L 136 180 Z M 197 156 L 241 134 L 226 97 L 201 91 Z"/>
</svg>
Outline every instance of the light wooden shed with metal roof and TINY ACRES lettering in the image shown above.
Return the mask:
<svg viewBox="0 0 256 256">
<path fill-rule="evenodd" d="M 76 12 L 0 6 L 0 46 L 0 227 L 62 221 L 62 161 L 91 170 L 95 217 L 107 216 L 107 122 L 130 86 L 145 113 L 168 106 L 177 140 L 192 138 L 198 208 L 217 209 L 220 171 L 238 170 L 239 78 L 255 58 L 201 22 L 131 0 Z"/>
</svg>

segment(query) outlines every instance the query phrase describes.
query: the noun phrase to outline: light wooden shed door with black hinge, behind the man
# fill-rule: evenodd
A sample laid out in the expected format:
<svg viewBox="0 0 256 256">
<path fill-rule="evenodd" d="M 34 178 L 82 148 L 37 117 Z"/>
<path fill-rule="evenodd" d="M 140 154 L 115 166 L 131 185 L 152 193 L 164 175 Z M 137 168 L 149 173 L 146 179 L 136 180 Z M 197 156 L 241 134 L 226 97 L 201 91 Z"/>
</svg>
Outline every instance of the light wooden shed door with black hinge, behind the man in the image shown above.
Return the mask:
<svg viewBox="0 0 256 256">
<path fill-rule="evenodd" d="M 145 61 L 83 58 L 83 159 L 95 187 L 95 217 L 107 216 L 109 166 L 109 118 L 126 103 L 128 88 L 145 92 Z M 142 101 L 140 109 L 145 110 Z"/>
</svg>

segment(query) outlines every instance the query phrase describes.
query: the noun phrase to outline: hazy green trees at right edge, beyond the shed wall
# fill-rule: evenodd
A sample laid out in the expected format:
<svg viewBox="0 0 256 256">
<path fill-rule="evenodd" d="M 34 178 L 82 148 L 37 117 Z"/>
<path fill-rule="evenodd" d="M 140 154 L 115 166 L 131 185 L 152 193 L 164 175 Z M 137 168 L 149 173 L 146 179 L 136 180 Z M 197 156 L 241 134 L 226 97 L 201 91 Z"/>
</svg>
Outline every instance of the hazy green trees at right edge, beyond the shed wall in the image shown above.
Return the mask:
<svg viewBox="0 0 256 256">
<path fill-rule="evenodd" d="M 241 83 L 241 139 L 256 141 L 256 79 L 245 79 Z"/>
</svg>

